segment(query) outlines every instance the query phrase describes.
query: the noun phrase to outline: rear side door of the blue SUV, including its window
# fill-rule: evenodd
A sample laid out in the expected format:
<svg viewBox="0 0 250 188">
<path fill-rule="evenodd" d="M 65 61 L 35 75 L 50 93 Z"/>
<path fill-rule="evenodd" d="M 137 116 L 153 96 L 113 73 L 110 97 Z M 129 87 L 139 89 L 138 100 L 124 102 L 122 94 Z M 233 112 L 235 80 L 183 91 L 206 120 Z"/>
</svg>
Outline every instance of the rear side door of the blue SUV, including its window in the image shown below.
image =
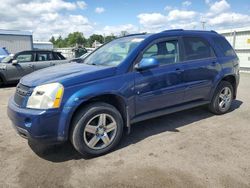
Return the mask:
<svg viewBox="0 0 250 188">
<path fill-rule="evenodd" d="M 182 38 L 183 81 L 186 85 L 184 102 L 208 100 L 220 64 L 208 40 L 202 37 Z"/>
</svg>

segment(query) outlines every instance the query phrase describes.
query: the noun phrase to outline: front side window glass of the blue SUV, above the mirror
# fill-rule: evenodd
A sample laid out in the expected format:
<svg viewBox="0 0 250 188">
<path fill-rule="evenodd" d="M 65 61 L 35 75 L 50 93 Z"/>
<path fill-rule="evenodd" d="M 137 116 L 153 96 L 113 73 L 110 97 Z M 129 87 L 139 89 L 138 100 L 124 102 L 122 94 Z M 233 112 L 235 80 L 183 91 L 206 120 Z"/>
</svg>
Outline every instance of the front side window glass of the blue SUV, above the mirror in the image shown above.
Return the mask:
<svg viewBox="0 0 250 188">
<path fill-rule="evenodd" d="M 143 58 L 153 57 L 160 65 L 177 63 L 179 60 L 178 40 L 161 41 L 150 46 Z"/>
</svg>

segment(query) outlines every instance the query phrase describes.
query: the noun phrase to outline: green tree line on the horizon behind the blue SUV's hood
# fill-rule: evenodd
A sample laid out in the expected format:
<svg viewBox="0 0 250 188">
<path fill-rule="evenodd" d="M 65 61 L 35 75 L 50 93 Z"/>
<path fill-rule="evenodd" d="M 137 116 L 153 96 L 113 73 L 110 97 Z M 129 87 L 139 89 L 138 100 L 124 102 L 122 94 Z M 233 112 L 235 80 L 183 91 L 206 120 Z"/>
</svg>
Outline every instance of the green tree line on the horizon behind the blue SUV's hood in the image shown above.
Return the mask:
<svg viewBox="0 0 250 188">
<path fill-rule="evenodd" d="M 125 34 L 127 34 L 127 32 L 121 33 L 121 35 Z M 68 34 L 68 36 L 65 38 L 59 36 L 57 39 L 55 39 L 55 37 L 52 36 L 49 41 L 52 42 L 54 47 L 56 48 L 75 47 L 76 45 L 81 45 L 83 47 L 92 47 L 95 41 L 103 44 L 106 42 L 110 42 L 115 38 L 117 38 L 117 36 L 113 34 L 108 36 L 93 34 L 89 38 L 86 38 L 81 32 L 73 32 Z"/>
</svg>

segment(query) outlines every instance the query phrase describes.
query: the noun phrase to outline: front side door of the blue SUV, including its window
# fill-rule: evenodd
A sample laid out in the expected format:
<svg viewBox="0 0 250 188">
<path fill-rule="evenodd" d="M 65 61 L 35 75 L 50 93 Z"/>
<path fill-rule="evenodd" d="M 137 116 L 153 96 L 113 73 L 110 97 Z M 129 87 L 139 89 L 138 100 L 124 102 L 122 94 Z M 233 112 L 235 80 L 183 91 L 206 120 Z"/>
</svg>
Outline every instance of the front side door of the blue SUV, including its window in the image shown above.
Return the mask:
<svg viewBox="0 0 250 188">
<path fill-rule="evenodd" d="M 149 57 L 155 58 L 160 66 L 135 73 L 136 115 L 178 105 L 184 97 L 179 40 L 155 41 L 142 53 L 142 58 Z"/>
</svg>

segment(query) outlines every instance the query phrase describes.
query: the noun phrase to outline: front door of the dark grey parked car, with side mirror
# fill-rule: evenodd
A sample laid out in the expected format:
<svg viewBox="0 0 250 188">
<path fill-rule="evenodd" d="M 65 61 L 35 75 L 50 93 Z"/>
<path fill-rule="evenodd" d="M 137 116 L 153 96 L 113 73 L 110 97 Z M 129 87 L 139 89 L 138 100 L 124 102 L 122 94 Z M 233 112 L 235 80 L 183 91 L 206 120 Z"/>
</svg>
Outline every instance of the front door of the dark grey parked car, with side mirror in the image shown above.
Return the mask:
<svg viewBox="0 0 250 188">
<path fill-rule="evenodd" d="M 21 52 L 14 56 L 13 61 L 17 63 L 8 63 L 7 65 L 7 80 L 17 81 L 23 76 L 32 73 L 34 71 L 34 53 L 32 52 Z"/>
</svg>

